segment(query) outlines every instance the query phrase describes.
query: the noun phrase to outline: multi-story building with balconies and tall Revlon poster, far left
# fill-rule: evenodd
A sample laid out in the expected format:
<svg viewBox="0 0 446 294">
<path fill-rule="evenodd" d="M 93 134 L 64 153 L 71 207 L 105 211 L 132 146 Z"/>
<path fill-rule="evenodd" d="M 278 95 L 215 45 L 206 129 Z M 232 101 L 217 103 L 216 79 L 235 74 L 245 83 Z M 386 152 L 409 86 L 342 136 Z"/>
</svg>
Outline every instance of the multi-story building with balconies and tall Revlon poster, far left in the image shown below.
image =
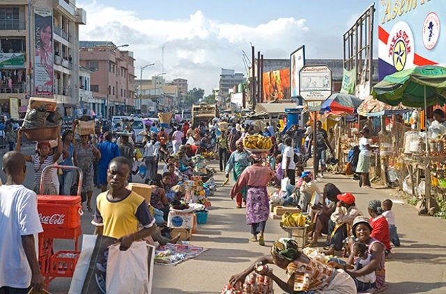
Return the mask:
<svg viewBox="0 0 446 294">
<path fill-rule="evenodd" d="M 75 0 L 0 2 L 2 106 L 10 98 L 25 106 L 26 97 L 47 97 L 64 116 L 73 113 L 79 97 L 79 24 L 86 24 L 86 13 Z"/>
</svg>

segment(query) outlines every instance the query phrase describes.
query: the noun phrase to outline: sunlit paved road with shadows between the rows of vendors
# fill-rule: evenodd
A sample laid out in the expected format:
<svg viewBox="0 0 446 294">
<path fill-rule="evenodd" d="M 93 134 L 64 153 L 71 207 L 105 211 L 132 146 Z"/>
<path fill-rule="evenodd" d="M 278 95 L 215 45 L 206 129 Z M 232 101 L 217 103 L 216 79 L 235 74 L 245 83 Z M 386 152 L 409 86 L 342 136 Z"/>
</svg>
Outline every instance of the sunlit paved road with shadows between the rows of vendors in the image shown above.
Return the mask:
<svg viewBox="0 0 446 294">
<path fill-rule="evenodd" d="M 32 149 L 24 149 L 31 154 Z M 1 168 L 1 163 L 0 163 Z M 26 185 L 32 186 L 31 169 Z M 4 175 L 2 174 L 2 180 Z M 192 236 L 193 245 L 208 248 L 197 259 L 178 266 L 155 266 L 155 294 L 220 293 L 229 277 L 248 266 L 252 261 L 269 252 L 272 241 L 285 236 L 279 220 L 268 220 L 266 246 L 249 242 L 249 227 L 245 224 L 245 210 L 236 209 L 229 199 L 230 185 L 221 187 L 222 173 L 216 177 L 219 188 L 211 201 L 208 224 L 199 226 Z M 394 200 L 394 213 L 401 237 L 401 247 L 394 248 L 386 261 L 387 281 L 390 287 L 385 293 L 446 293 L 446 222 L 439 218 L 418 216 L 415 208 L 401 202 L 395 190 L 360 189 L 357 183 L 344 176 L 328 175 L 323 183 L 335 183 L 341 191 L 349 191 L 357 197 L 357 206 L 367 213 L 370 199 Z M 98 191 L 95 191 L 98 193 Z M 93 233 L 92 213 L 82 217 L 85 234 Z M 56 250 L 70 249 L 70 241 L 57 241 Z M 282 270 L 276 274 L 284 278 Z M 51 293 L 67 293 L 70 279 L 52 281 Z M 276 286 L 277 288 L 277 286 Z M 276 293 L 282 293 L 276 290 Z"/>
</svg>

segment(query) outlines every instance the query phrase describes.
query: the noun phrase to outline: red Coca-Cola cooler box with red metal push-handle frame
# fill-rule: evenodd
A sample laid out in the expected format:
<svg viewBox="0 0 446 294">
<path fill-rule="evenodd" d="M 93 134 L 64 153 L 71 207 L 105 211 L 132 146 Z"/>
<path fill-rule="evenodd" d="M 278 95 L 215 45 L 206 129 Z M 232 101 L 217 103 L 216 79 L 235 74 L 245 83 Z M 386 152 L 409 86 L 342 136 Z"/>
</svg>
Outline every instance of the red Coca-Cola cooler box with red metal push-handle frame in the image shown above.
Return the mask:
<svg viewBox="0 0 446 294">
<path fill-rule="evenodd" d="M 43 174 L 52 168 L 76 170 L 79 173 L 77 195 L 42 195 Z M 75 229 L 81 225 L 82 202 L 82 170 L 75 166 L 52 165 L 43 169 L 40 180 L 40 195 L 37 196 L 37 206 L 40 222 L 44 231 L 49 229 Z"/>
</svg>

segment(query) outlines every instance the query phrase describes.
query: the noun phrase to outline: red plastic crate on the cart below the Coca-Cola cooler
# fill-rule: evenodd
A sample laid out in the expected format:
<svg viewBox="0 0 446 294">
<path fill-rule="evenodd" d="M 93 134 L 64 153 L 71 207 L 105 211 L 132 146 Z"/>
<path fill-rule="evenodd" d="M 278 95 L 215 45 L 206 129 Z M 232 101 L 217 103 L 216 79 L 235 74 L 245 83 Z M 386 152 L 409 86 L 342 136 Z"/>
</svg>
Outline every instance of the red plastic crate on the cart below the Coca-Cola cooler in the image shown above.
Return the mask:
<svg viewBox="0 0 446 294">
<path fill-rule="evenodd" d="M 78 251 L 58 251 L 49 259 L 49 275 L 51 277 L 72 277 L 75 272 Z"/>
</svg>

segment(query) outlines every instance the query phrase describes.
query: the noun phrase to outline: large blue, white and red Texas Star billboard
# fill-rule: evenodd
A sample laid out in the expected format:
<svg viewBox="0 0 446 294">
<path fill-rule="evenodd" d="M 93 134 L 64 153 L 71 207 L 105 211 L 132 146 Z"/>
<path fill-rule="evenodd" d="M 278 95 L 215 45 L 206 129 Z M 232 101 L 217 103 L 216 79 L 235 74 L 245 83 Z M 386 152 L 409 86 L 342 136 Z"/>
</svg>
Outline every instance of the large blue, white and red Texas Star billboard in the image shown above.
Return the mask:
<svg viewBox="0 0 446 294">
<path fill-rule="evenodd" d="M 379 79 L 446 62 L 446 5 L 441 0 L 378 1 Z M 442 40 L 443 38 L 443 40 Z"/>
</svg>

